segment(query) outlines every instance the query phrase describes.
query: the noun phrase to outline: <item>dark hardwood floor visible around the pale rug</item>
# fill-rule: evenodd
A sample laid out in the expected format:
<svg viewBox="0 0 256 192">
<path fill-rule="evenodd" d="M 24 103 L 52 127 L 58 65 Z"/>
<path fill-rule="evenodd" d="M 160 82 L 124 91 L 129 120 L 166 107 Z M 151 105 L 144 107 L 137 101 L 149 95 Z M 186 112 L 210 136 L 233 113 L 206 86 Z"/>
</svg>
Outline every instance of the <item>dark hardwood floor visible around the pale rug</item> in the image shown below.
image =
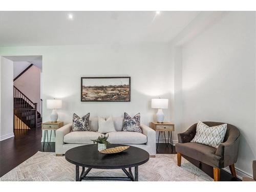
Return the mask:
<svg viewBox="0 0 256 192">
<path fill-rule="evenodd" d="M 24 162 L 38 151 L 42 152 L 41 129 L 37 130 L 15 130 L 14 138 L 0 141 L 0 177 L 8 173 L 14 167 Z M 55 152 L 55 143 L 45 144 L 45 152 Z M 172 152 L 170 145 L 166 147 L 165 143 L 159 143 L 158 154 L 176 154 L 175 147 Z M 202 169 L 207 175 L 213 178 L 212 167 L 204 163 L 200 163 L 189 157 L 186 158 Z M 181 161 L 182 163 L 182 161 Z M 231 174 L 225 170 L 221 170 L 221 181 L 241 181 L 233 178 Z"/>
</svg>

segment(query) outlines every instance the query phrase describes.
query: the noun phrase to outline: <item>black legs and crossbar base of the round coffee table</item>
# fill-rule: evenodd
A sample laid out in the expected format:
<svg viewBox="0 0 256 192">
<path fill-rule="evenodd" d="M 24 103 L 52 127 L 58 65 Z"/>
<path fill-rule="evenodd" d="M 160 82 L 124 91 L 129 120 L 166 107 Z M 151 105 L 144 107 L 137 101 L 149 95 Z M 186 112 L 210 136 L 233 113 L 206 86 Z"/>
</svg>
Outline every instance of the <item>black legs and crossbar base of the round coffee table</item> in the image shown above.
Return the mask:
<svg viewBox="0 0 256 192">
<path fill-rule="evenodd" d="M 112 180 L 112 181 L 138 181 L 139 179 L 139 166 L 135 166 L 135 177 L 133 176 L 132 167 L 129 167 L 127 171 L 126 168 L 122 168 L 123 172 L 127 177 L 92 177 L 87 176 L 92 168 L 82 167 L 82 173 L 79 176 L 79 166 L 76 165 L 76 181 L 82 180 Z"/>
</svg>

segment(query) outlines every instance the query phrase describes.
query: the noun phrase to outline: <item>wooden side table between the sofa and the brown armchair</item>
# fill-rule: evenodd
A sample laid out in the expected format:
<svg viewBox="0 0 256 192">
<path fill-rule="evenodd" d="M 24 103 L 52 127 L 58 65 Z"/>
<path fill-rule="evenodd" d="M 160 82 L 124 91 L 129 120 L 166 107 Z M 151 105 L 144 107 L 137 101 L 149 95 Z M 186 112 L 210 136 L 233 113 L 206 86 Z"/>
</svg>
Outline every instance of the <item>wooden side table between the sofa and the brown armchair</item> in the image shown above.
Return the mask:
<svg viewBox="0 0 256 192">
<path fill-rule="evenodd" d="M 168 147 L 168 145 L 170 144 L 170 146 L 172 147 L 172 151 L 173 151 L 173 136 L 172 136 L 172 132 L 174 131 L 174 123 L 172 122 L 163 122 L 163 123 L 158 123 L 158 122 L 151 122 L 150 123 L 150 127 L 155 130 L 158 131 L 158 141 L 157 141 L 157 149 L 158 149 L 158 145 L 159 145 L 159 137 L 160 137 L 160 133 L 163 132 L 164 134 L 164 141 L 166 146 Z M 165 137 L 165 132 L 167 132 L 167 143 L 166 143 L 166 137 Z M 169 139 L 170 139 L 170 143 L 169 143 Z"/>
</svg>

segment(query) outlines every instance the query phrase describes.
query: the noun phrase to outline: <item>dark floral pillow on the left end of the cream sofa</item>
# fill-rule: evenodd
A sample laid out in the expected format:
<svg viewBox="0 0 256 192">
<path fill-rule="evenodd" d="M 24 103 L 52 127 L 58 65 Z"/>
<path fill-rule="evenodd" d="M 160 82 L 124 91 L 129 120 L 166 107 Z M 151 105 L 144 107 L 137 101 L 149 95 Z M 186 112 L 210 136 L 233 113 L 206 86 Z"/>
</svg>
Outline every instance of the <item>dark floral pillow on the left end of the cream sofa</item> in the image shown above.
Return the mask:
<svg viewBox="0 0 256 192">
<path fill-rule="evenodd" d="M 75 113 L 73 114 L 72 131 L 92 131 L 89 127 L 90 113 L 80 118 Z"/>
</svg>

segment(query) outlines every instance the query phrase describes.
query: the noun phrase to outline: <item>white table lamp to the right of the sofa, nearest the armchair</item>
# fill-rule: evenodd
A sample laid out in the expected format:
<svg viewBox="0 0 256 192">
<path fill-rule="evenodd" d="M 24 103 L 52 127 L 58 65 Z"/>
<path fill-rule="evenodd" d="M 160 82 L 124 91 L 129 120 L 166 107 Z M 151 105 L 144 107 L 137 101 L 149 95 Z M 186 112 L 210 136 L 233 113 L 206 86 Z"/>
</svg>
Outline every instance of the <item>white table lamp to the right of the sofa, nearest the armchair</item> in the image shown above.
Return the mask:
<svg viewBox="0 0 256 192">
<path fill-rule="evenodd" d="M 168 99 L 151 99 L 151 108 L 158 109 L 157 111 L 157 122 L 163 123 L 164 114 L 162 109 L 168 109 Z"/>
</svg>

